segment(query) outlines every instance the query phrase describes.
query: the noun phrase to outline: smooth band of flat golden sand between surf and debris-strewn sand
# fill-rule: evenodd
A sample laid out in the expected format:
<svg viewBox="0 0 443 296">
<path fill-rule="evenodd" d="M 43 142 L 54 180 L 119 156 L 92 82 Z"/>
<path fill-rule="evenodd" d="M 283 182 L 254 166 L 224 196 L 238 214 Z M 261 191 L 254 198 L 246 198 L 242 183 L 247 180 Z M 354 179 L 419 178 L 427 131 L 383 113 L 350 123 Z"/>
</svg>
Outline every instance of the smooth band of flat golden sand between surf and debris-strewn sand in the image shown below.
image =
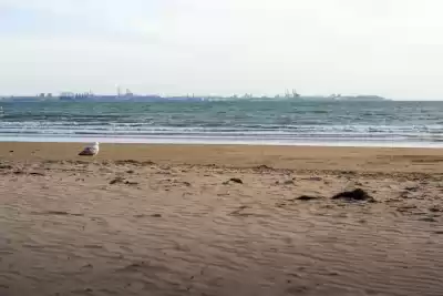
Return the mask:
<svg viewBox="0 0 443 296">
<path fill-rule="evenodd" d="M 443 173 L 443 150 L 274 145 L 111 144 L 94 157 L 78 156 L 82 143 L 0 142 L 0 160 L 153 162 L 311 171 Z"/>
</svg>

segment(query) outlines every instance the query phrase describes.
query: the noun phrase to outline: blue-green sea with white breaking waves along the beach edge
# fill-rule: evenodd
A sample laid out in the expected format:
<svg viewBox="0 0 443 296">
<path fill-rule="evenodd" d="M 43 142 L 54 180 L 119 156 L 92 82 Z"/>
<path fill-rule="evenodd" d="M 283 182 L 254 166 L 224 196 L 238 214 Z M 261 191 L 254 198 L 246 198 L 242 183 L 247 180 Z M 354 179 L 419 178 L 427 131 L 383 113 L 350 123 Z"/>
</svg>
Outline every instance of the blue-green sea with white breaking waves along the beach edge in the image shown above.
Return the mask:
<svg viewBox="0 0 443 296">
<path fill-rule="evenodd" d="M 0 141 L 443 144 L 443 102 L 2 102 L 0 106 Z"/>
</svg>

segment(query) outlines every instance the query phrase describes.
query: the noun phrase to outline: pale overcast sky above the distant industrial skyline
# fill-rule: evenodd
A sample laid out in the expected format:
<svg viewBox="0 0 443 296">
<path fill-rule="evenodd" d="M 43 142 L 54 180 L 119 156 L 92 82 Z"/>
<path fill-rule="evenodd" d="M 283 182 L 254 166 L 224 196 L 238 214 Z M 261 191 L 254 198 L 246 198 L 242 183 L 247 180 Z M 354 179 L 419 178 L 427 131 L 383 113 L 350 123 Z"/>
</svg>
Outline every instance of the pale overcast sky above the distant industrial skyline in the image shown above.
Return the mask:
<svg viewBox="0 0 443 296">
<path fill-rule="evenodd" d="M 443 99 L 442 0 L 0 0 L 0 93 Z"/>
</svg>

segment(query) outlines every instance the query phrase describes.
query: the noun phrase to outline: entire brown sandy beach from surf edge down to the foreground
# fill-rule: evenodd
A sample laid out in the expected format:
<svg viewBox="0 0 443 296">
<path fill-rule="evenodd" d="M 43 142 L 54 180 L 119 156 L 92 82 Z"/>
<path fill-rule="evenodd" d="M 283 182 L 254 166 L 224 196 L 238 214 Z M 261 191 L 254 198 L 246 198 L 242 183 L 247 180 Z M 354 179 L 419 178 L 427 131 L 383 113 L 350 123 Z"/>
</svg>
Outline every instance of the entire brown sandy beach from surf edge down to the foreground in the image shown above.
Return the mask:
<svg viewBox="0 0 443 296">
<path fill-rule="evenodd" d="M 81 146 L 0 144 L 1 296 L 443 295 L 441 150 Z"/>
</svg>

